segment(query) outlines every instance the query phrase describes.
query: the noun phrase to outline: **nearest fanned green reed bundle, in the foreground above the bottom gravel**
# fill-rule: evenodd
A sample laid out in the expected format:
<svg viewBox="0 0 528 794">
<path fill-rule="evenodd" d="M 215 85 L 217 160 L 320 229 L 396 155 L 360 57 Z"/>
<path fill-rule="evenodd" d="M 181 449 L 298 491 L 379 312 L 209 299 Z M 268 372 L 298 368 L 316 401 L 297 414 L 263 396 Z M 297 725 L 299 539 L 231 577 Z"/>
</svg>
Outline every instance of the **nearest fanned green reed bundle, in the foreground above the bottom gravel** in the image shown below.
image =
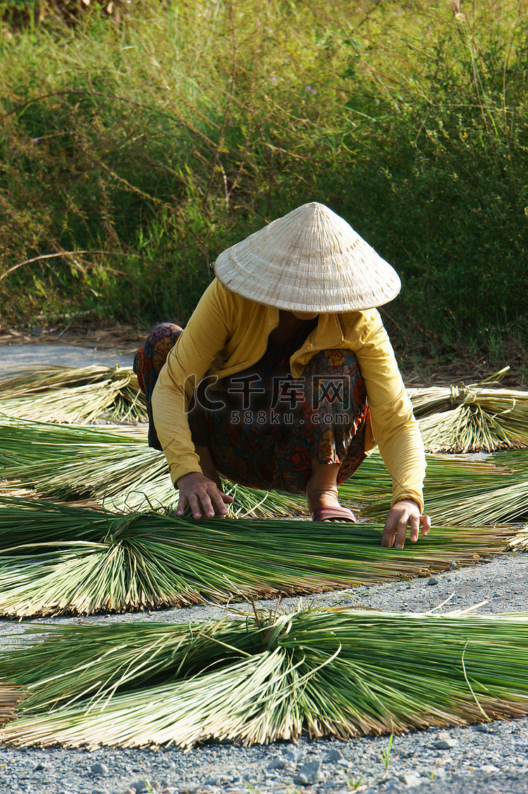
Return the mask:
<svg viewBox="0 0 528 794">
<path fill-rule="evenodd" d="M 346 740 L 528 713 L 522 616 L 313 609 L 32 630 L 48 636 L 0 658 L 26 695 L 0 732 L 15 746 Z"/>
</svg>

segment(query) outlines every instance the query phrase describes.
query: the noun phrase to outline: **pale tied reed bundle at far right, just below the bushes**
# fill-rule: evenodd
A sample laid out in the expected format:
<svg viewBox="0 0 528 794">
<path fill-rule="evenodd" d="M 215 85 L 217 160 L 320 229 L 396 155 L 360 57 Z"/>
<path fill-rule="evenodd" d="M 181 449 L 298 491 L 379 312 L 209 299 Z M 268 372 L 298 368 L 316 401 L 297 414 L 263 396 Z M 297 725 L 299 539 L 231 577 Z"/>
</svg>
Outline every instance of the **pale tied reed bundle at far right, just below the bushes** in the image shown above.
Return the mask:
<svg viewBox="0 0 528 794">
<path fill-rule="evenodd" d="M 408 389 L 429 452 L 494 452 L 528 445 L 528 391 L 478 384 Z"/>
</svg>

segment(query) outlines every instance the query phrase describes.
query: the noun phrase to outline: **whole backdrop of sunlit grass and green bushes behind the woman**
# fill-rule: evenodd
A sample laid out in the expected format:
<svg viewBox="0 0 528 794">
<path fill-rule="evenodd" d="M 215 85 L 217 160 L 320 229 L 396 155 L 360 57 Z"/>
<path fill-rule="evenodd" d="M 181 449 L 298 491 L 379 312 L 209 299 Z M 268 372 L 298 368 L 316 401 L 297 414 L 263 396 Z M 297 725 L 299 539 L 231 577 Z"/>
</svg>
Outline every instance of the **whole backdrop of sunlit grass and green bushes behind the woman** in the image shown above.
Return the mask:
<svg viewBox="0 0 528 794">
<path fill-rule="evenodd" d="M 528 336 L 524 2 L 0 2 L 0 321 L 184 322 L 306 201 L 402 276 L 400 349 Z"/>
</svg>

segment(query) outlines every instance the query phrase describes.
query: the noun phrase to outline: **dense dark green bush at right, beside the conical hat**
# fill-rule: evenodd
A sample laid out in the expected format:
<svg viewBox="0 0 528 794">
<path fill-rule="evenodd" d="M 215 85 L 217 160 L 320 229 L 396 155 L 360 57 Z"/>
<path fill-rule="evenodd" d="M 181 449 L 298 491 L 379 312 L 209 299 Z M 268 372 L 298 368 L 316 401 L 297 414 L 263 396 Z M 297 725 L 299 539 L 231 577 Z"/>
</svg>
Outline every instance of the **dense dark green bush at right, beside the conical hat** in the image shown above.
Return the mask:
<svg viewBox="0 0 528 794">
<path fill-rule="evenodd" d="M 464 17 L 436 33 L 397 94 L 371 92 L 369 107 L 355 81 L 374 121 L 347 215 L 402 274 L 398 309 L 423 337 L 451 347 L 468 334 L 518 338 L 528 326 L 526 22 L 510 37 L 497 20 L 478 37 Z"/>
</svg>

